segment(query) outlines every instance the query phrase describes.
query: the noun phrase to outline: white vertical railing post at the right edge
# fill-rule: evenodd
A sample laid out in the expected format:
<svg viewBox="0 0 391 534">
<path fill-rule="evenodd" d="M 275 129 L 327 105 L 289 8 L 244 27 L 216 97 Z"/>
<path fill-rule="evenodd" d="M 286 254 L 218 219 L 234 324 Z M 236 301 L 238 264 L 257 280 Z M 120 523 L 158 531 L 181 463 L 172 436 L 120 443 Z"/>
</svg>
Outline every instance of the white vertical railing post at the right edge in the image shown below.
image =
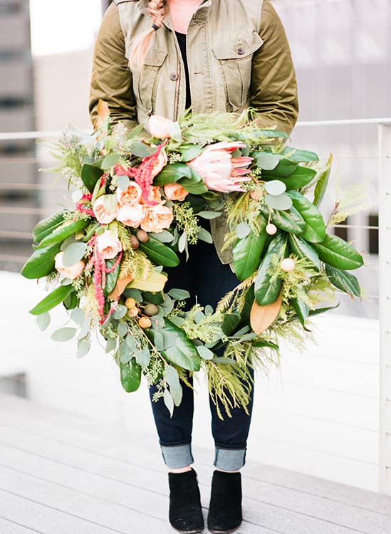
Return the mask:
<svg viewBox="0 0 391 534">
<path fill-rule="evenodd" d="M 391 495 L 391 125 L 379 124 L 380 493 Z"/>
</svg>

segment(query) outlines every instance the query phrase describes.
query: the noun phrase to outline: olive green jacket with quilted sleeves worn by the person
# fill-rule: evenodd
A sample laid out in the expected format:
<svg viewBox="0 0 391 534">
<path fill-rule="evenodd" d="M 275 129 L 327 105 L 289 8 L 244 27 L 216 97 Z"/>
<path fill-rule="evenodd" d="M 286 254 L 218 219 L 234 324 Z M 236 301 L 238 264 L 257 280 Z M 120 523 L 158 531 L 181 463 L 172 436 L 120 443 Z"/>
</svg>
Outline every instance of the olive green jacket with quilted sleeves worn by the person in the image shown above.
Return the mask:
<svg viewBox="0 0 391 534">
<path fill-rule="evenodd" d="M 108 103 L 113 122 L 129 127 L 152 113 L 177 120 L 185 110 L 182 56 L 170 14 L 155 32 L 142 68 L 129 68 L 132 43 L 152 25 L 148 0 L 115 0 L 106 11 L 93 58 L 90 117 L 99 99 Z M 260 127 L 290 133 L 298 116 L 296 75 L 286 33 L 270 0 L 204 0 L 189 23 L 187 56 L 192 112 L 236 112 L 251 105 Z M 212 221 L 221 253 L 226 229 Z"/>
</svg>

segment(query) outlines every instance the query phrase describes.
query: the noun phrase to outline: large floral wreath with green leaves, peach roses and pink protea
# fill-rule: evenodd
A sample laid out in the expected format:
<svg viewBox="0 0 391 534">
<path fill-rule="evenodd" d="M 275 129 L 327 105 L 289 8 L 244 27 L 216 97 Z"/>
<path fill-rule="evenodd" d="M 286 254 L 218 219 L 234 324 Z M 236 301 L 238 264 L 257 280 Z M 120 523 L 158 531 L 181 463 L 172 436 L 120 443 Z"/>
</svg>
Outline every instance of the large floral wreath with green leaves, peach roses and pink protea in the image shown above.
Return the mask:
<svg viewBox="0 0 391 534">
<path fill-rule="evenodd" d="M 46 277 L 51 292 L 31 313 L 45 330 L 63 303 L 74 325 L 53 340 L 77 337 L 83 356 L 98 332 L 124 389 L 135 391 L 144 375 L 170 412 L 189 373 L 205 370 L 222 417 L 221 407 L 230 414 L 248 404 L 251 368 L 278 362 L 281 340 L 305 340 L 308 318 L 333 308 L 337 291 L 360 297 L 348 271 L 363 258 L 327 232 L 343 218 L 338 206 L 327 224 L 318 209 L 331 157 L 321 165 L 286 146 L 287 135 L 259 130 L 251 110 L 152 116 L 145 127 L 112 126 L 101 102 L 93 135 L 68 130 L 56 145 L 73 206 L 33 230 L 21 273 Z M 186 310 L 187 291 L 165 293 L 165 268 L 199 240 L 212 246 L 199 221 L 220 216 L 238 286 L 216 310 Z"/>
</svg>

